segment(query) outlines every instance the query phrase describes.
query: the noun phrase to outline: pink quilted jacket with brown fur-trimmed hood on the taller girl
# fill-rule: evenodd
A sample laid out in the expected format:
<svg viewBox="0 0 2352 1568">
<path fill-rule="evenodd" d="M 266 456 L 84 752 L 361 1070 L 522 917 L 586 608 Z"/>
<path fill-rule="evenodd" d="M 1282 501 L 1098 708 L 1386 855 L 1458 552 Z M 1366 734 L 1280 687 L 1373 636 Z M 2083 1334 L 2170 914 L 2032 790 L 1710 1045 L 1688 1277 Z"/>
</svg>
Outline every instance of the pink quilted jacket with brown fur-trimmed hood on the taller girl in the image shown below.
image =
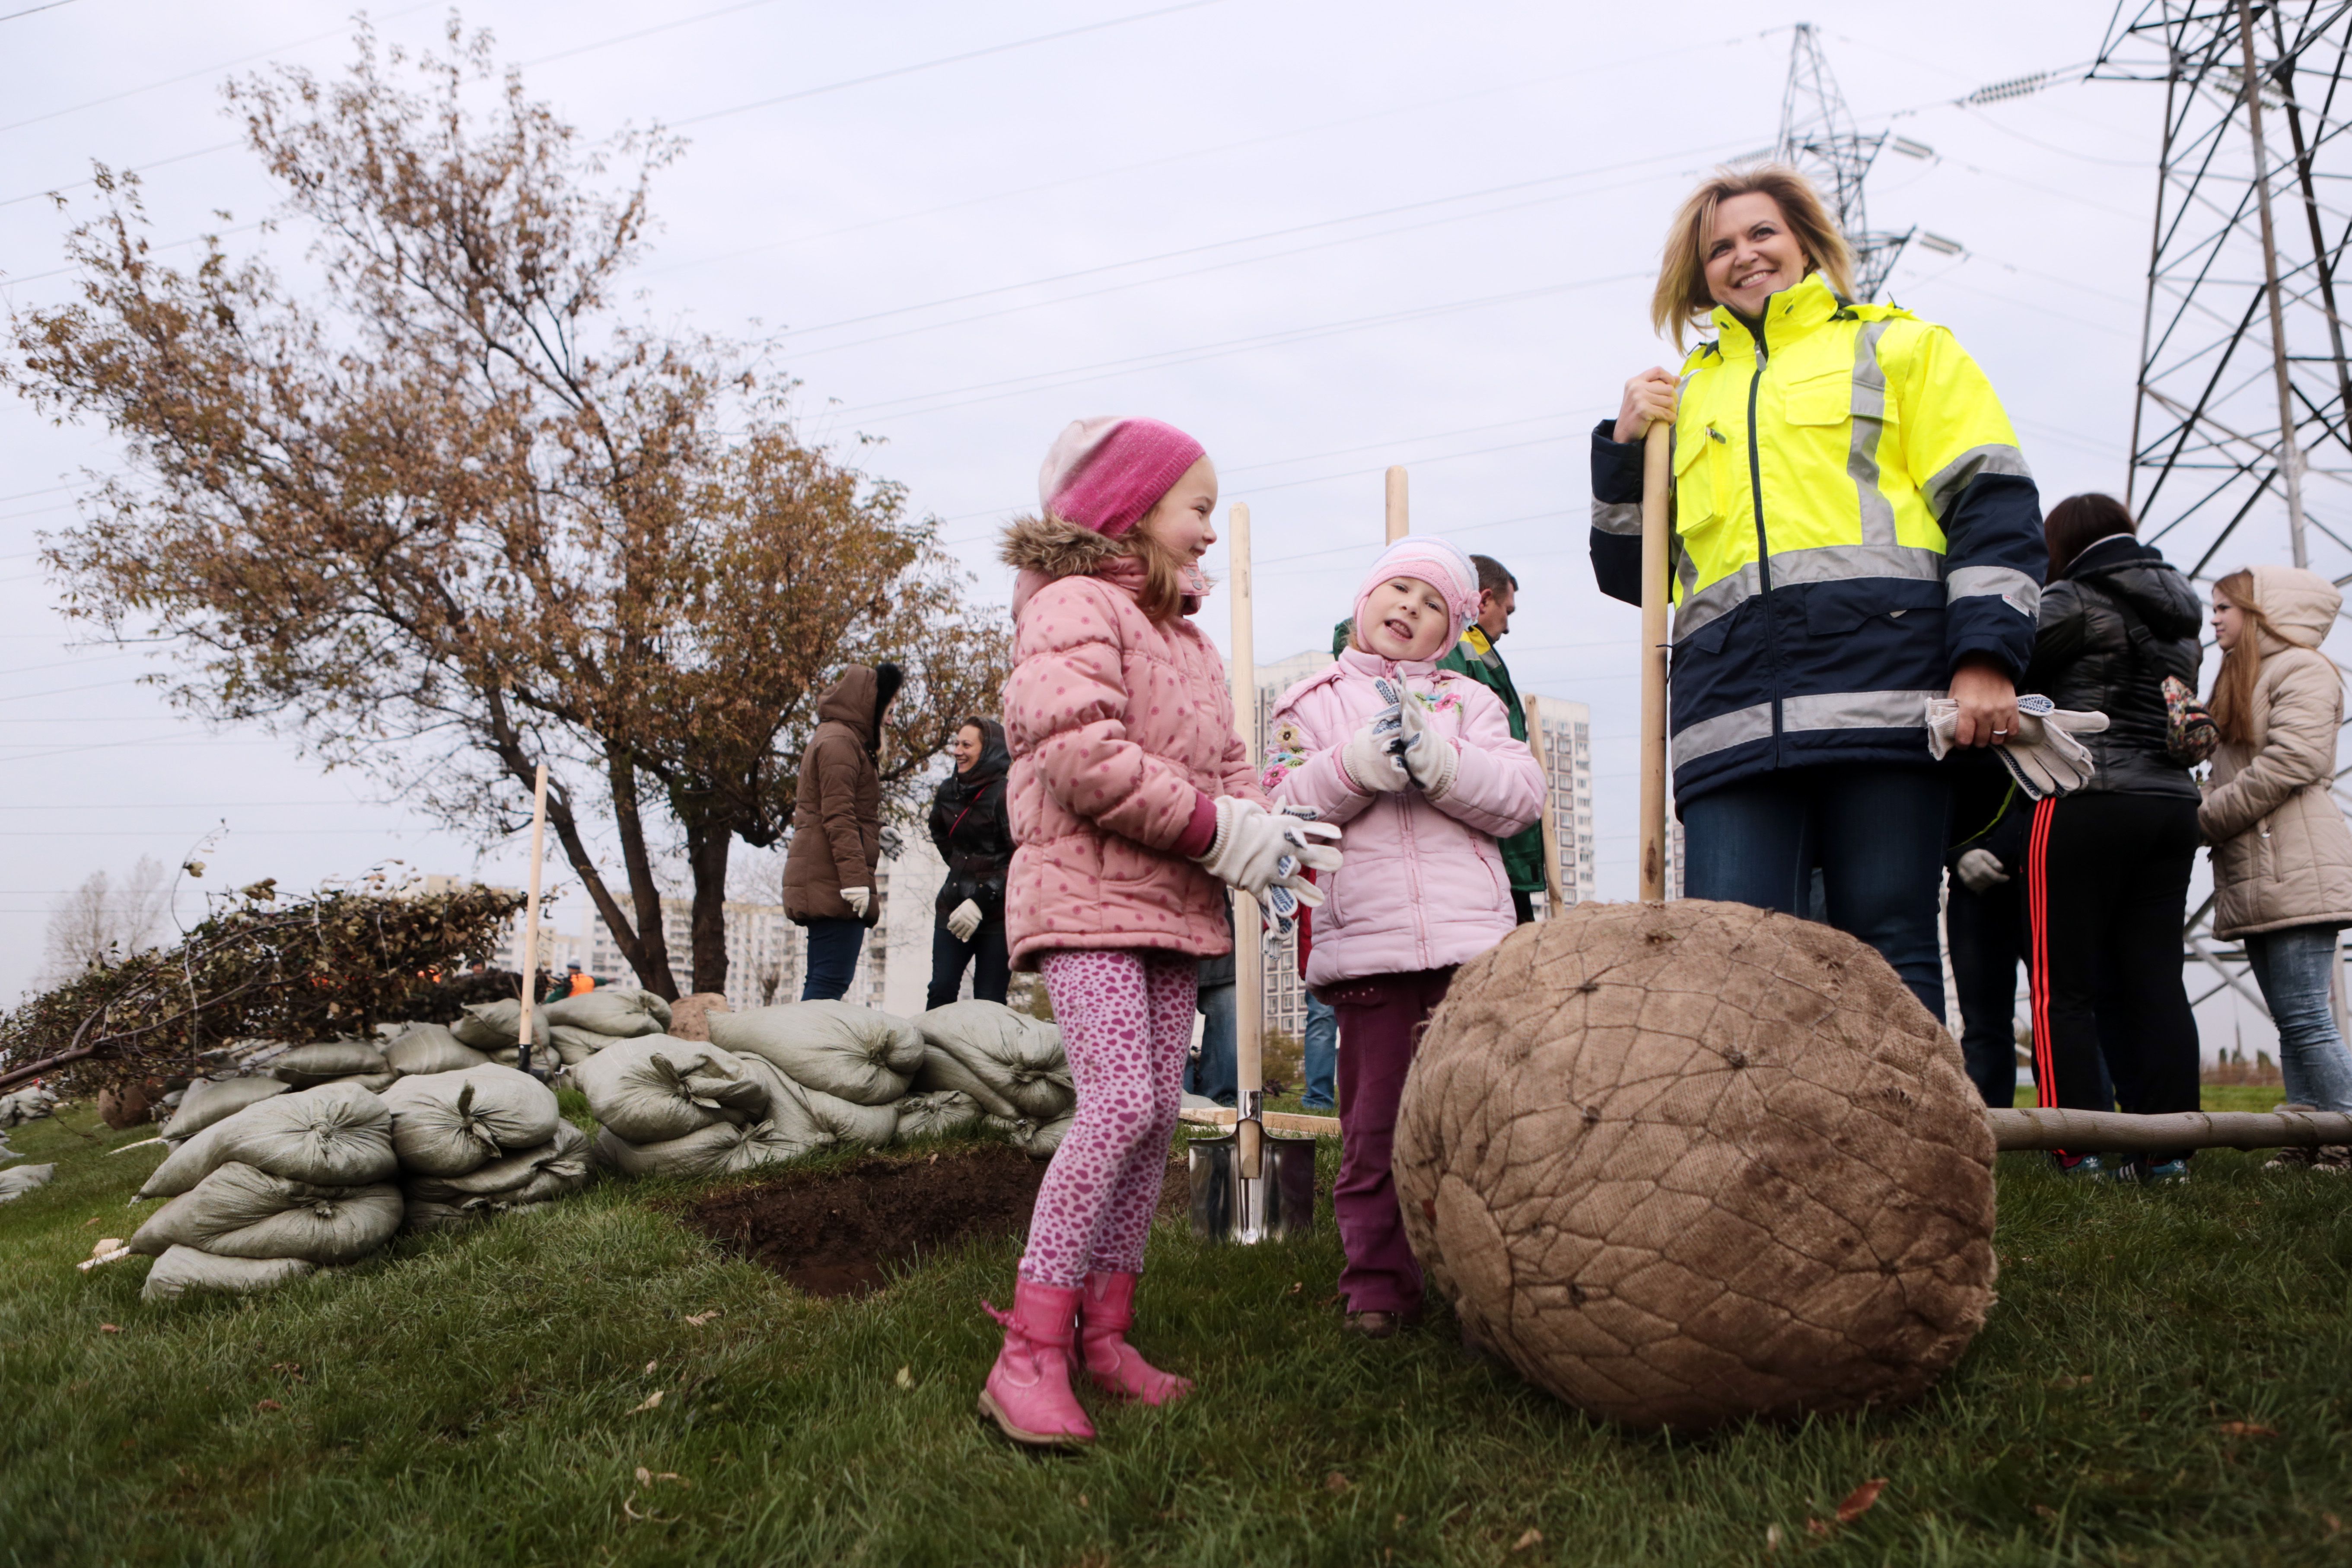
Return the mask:
<svg viewBox="0 0 2352 1568">
<path fill-rule="evenodd" d="M 1190 618 L 1143 614 L 1141 562 L 1112 538 L 1025 520 L 1004 559 L 1023 569 L 1004 684 L 1014 966 L 1058 947 L 1230 952 L 1225 884 L 1178 849 L 1202 795 L 1265 802 L 1225 661 Z"/>
</svg>

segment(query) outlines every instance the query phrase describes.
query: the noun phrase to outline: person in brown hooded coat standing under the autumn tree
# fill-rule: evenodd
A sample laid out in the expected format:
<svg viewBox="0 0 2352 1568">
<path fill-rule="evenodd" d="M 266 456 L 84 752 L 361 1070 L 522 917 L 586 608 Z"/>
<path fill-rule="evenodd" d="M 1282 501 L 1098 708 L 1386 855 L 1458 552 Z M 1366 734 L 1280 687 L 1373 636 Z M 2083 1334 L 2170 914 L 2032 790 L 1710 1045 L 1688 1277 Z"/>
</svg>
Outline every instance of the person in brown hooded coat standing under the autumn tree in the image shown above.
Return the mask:
<svg viewBox="0 0 2352 1568">
<path fill-rule="evenodd" d="M 882 919 L 882 715 L 898 696 L 898 665 L 849 665 L 816 703 L 816 733 L 800 755 L 793 846 L 783 856 L 783 914 L 809 933 L 802 1001 L 840 1001 L 866 931 Z"/>
</svg>

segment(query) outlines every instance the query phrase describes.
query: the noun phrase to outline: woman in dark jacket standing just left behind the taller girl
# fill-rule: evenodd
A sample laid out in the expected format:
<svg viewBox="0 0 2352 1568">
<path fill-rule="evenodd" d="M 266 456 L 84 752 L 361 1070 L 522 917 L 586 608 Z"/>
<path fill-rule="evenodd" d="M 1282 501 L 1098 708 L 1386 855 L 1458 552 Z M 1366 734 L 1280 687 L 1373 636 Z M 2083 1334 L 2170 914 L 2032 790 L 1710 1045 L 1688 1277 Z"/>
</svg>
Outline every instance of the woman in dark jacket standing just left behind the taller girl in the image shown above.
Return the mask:
<svg viewBox="0 0 2352 1568">
<path fill-rule="evenodd" d="M 1004 804 L 1011 752 L 1004 726 L 969 717 L 955 731 L 955 771 L 931 797 L 931 842 L 948 863 L 938 886 L 938 926 L 931 931 L 931 990 L 924 1006 L 948 1006 L 964 987 L 964 964 L 978 959 L 971 994 L 1004 1001 L 1011 961 L 1004 952 L 1004 870 L 1014 860 L 1014 827 Z"/>
</svg>

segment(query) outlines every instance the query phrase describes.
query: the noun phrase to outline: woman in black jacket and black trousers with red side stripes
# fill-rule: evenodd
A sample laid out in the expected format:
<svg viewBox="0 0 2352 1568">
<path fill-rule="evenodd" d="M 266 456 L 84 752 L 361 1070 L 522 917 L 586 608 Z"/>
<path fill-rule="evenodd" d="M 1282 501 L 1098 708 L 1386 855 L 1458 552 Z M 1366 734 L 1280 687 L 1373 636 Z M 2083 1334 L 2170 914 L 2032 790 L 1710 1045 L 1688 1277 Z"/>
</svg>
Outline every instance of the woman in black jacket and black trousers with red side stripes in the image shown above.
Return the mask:
<svg viewBox="0 0 2352 1568">
<path fill-rule="evenodd" d="M 2164 679 L 2197 684 L 2201 604 L 2114 496 L 2067 496 L 2044 536 L 2051 585 L 2025 689 L 2107 715 L 2086 733 L 2096 776 L 2032 811 L 2025 849 L 2034 1084 L 2042 1105 L 2197 1110 L 2197 1018 L 2180 983 L 2180 926 L 2197 858 L 2197 780 L 2166 750 Z M 2098 1173 L 2096 1157 L 2060 1154 Z M 2187 1166 L 2150 1154 L 2140 1175 Z"/>
</svg>

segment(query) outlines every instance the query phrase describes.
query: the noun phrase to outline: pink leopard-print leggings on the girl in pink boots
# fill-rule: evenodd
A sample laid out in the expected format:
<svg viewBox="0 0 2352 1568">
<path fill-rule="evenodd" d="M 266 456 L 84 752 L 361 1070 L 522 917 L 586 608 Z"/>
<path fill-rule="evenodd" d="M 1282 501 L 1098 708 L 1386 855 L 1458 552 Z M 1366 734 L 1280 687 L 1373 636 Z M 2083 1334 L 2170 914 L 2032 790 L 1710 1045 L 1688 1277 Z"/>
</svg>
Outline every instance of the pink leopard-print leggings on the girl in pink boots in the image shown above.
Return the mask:
<svg viewBox="0 0 2352 1568">
<path fill-rule="evenodd" d="M 1051 952 L 1040 961 L 1077 1081 L 1077 1117 L 1037 1187 L 1021 1279 L 1075 1291 L 1141 1274 L 1192 1048 L 1195 959 Z"/>
</svg>

